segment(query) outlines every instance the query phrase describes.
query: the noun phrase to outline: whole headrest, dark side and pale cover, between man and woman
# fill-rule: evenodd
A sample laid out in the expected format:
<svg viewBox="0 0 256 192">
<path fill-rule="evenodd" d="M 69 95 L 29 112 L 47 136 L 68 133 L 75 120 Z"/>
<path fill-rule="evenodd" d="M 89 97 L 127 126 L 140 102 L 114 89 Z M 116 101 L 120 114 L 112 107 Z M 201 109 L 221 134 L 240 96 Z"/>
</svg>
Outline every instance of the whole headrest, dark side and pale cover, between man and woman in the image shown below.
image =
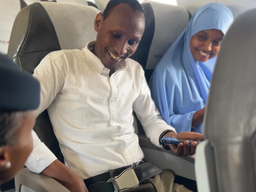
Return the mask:
<svg viewBox="0 0 256 192">
<path fill-rule="evenodd" d="M 154 1 L 144 1 L 142 5 L 146 18 L 145 32 L 131 58 L 141 64 L 148 81 L 163 54 L 189 23 L 189 12 L 181 6 Z"/>
</svg>

